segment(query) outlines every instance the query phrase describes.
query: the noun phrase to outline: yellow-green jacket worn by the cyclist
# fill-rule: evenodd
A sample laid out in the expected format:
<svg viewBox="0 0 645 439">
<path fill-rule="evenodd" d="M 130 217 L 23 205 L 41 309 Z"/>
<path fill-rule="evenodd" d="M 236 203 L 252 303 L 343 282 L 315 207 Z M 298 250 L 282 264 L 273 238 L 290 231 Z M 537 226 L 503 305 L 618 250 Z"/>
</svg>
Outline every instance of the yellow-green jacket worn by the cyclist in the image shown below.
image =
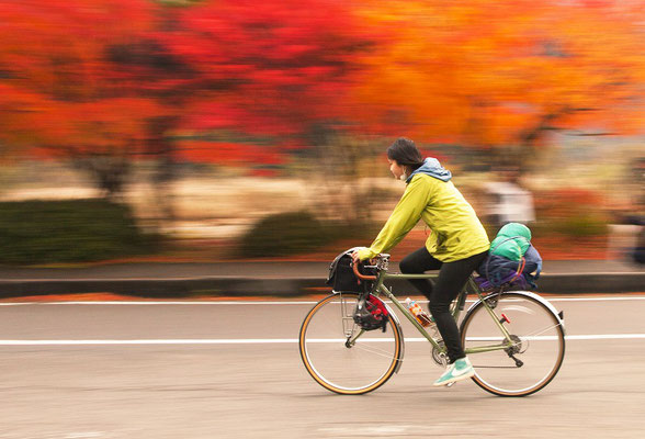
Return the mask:
<svg viewBox="0 0 645 439">
<path fill-rule="evenodd" d="M 475 211 L 452 181 L 416 173 L 374 243 L 360 250 L 359 258 L 364 260 L 388 251 L 421 218 L 431 230 L 426 248 L 440 261 L 468 258 L 490 247 Z"/>
</svg>

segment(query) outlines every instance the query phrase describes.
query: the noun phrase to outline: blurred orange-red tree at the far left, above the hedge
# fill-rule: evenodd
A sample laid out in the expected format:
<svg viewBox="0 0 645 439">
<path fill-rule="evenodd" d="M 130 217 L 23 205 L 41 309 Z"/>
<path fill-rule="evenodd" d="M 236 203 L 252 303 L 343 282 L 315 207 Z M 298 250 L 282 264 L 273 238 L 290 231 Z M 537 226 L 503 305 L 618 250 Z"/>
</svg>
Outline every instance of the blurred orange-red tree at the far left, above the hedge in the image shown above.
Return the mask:
<svg viewBox="0 0 645 439">
<path fill-rule="evenodd" d="M 111 59 L 154 29 L 150 4 L 30 0 L 0 3 L 0 135 L 72 160 L 104 195 L 120 195 L 147 121 L 165 114 L 140 92 L 152 78 Z"/>
</svg>

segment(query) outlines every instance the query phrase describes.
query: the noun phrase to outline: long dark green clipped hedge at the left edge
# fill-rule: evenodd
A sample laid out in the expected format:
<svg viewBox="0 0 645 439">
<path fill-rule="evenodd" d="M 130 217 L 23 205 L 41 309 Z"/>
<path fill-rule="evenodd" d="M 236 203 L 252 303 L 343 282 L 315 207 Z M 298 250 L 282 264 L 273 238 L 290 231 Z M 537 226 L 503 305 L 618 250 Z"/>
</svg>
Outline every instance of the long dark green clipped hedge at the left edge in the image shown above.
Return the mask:
<svg viewBox="0 0 645 439">
<path fill-rule="evenodd" d="M 129 207 L 106 200 L 0 203 L 0 262 L 44 263 L 113 259 L 155 251 Z"/>
</svg>

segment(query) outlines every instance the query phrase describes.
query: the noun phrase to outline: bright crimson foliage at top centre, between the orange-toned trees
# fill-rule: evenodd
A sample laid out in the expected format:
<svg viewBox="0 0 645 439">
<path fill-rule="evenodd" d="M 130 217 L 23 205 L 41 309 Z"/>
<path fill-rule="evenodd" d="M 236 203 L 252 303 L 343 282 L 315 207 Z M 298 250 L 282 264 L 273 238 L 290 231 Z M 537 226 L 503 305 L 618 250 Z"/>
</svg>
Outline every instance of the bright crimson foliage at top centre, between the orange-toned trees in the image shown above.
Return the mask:
<svg viewBox="0 0 645 439">
<path fill-rule="evenodd" d="M 157 38 L 204 87 L 190 126 L 280 135 L 339 116 L 360 30 L 340 1 L 223 0 L 182 10 Z"/>
</svg>

